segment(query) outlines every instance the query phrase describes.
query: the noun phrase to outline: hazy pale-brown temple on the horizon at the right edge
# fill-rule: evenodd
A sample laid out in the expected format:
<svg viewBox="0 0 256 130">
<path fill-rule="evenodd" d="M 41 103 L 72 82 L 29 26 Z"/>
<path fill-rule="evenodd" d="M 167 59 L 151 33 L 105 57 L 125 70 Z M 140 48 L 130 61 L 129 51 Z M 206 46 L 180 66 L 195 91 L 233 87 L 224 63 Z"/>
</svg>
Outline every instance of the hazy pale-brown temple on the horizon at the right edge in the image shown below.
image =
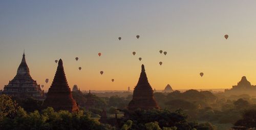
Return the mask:
<svg viewBox="0 0 256 130">
<path fill-rule="evenodd" d="M 225 90 L 225 94 L 253 94 L 255 92 L 256 86 L 251 85 L 245 76 L 242 77 L 241 81 L 239 81 L 237 85 L 233 85 L 232 89 Z"/>
</svg>

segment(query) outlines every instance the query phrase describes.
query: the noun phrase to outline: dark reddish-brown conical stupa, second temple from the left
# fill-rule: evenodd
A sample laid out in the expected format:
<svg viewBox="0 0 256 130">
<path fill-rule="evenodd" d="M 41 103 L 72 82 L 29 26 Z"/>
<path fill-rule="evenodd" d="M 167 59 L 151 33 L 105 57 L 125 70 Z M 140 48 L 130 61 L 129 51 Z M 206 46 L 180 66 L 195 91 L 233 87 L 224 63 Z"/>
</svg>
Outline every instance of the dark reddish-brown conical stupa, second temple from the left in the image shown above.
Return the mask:
<svg viewBox="0 0 256 130">
<path fill-rule="evenodd" d="M 61 59 L 59 59 L 58 68 L 54 76 L 52 85 L 49 88 L 47 98 L 44 101 L 44 106 L 53 107 L 55 111 L 78 111 L 76 101 L 73 99 L 68 81 L 66 79 Z"/>
</svg>

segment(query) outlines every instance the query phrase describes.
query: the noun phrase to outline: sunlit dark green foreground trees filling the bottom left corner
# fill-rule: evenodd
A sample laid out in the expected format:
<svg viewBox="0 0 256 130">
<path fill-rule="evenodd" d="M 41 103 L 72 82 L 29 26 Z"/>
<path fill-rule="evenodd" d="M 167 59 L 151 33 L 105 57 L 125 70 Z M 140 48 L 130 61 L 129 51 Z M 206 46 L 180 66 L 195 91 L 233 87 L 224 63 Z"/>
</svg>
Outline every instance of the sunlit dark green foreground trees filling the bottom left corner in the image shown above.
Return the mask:
<svg viewBox="0 0 256 130">
<path fill-rule="evenodd" d="M 79 111 L 55 112 L 52 107 L 26 112 L 7 95 L 0 96 L 0 129 L 115 129 L 90 118 L 89 113 Z"/>
</svg>

